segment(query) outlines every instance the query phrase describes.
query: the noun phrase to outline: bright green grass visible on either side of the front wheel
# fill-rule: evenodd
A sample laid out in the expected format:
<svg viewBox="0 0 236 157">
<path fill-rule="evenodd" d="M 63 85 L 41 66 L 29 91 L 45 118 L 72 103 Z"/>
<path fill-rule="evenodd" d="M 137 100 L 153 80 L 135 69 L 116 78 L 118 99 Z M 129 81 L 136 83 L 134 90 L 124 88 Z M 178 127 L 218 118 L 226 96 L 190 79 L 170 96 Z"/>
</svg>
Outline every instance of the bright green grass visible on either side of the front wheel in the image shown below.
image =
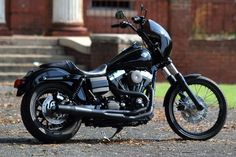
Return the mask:
<svg viewBox="0 0 236 157">
<path fill-rule="evenodd" d="M 163 99 L 169 87 L 169 83 L 157 83 L 157 98 Z M 219 87 L 225 95 L 226 101 L 228 103 L 228 108 L 236 109 L 236 84 L 220 84 Z"/>
</svg>

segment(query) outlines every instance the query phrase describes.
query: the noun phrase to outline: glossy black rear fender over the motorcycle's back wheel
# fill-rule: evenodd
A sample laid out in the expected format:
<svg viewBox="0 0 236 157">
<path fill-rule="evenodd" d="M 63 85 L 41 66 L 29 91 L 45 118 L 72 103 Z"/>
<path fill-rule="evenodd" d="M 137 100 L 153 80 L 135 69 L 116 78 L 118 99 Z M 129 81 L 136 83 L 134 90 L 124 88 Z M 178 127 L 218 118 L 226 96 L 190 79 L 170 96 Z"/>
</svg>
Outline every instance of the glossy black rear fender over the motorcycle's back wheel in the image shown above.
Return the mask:
<svg viewBox="0 0 236 157">
<path fill-rule="evenodd" d="M 62 78 L 61 80 L 67 84 L 68 81 L 64 81 L 63 78 L 70 76 L 70 73 L 60 69 L 60 68 L 48 68 L 48 69 L 37 69 L 30 73 L 30 75 L 26 75 L 23 79 L 25 80 L 25 84 L 18 88 L 17 96 L 22 96 L 25 92 L 29 91 L 30 89 L 35 88 L 37 85 L 41 83 L 47 82 L 45 78 Z"/>
</svg>

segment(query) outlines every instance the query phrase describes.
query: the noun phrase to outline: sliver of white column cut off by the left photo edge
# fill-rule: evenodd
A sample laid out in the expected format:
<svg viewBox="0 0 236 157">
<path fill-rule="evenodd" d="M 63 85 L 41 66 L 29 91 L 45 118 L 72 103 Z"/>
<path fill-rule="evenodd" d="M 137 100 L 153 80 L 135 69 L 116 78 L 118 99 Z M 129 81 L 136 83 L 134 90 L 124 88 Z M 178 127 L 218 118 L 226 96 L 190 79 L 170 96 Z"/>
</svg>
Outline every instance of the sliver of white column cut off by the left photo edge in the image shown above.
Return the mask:
<svg viewBox="0 0 236 157">
<path fill-rule="evenodd" d="M 10 31 L 7 28 L 5 0 L 0 0 L 0 36 L 1 35 L 10 35 Z"/>
</svg>

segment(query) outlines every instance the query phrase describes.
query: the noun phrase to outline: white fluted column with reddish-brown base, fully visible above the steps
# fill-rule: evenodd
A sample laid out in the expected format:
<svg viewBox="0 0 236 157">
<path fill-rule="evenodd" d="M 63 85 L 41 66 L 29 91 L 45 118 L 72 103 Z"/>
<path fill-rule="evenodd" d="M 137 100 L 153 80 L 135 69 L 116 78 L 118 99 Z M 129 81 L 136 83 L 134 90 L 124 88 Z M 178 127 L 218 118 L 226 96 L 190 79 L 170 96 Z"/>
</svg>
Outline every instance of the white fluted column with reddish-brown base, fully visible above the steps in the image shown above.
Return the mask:
<svg viewBox="0 0 236 157">
<path fill-rule="evenodd" d="M 88 35 L 83 20 L 83 0 L 53 0 L 52 34 Z"/>
</svg>

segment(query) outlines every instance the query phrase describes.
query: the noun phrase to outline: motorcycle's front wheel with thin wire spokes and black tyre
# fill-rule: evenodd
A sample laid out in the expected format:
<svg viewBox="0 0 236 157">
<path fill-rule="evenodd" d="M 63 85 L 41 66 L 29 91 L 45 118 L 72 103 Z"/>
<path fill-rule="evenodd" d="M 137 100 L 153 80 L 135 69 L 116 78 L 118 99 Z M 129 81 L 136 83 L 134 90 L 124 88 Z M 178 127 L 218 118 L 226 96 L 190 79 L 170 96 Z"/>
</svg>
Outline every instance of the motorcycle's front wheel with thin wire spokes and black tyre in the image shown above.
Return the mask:
<svg viewBox="0 0 236 157">
<path fill-rule="evenodd" d="M 191 98 L 177 85 L 170 88 L 164 101 L 167 121 L 184 139 L 210 139 L 224 126 L 227 116 L 225 97 L 216 83 L 206 77 L 186 81 L 204 109 L 197 110 Z"/>
</svg>

